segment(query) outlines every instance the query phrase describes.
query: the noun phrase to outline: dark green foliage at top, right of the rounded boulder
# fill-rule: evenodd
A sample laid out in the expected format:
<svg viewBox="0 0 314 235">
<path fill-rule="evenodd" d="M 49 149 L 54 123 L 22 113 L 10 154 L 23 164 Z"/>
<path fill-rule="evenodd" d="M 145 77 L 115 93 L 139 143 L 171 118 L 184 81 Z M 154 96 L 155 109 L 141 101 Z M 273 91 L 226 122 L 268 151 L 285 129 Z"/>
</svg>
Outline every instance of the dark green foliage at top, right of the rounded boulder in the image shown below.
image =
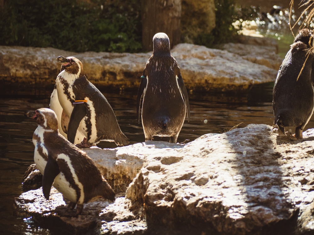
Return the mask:
<svg viewBox="0 0 314 235">
<path fill-rule="evenodd" d="M 232 42 L 238 30 L 232 25 L 237 20 L 252 20 L 257 16 L 253 8 L 236 8 L 235 0 L 215 0 L 215 28 L 210 34 L 200 34 L 196 44 L 214 47 L 216 44 Z M 241 27 L 241 26 L 240 26 Z"/>
</svg>

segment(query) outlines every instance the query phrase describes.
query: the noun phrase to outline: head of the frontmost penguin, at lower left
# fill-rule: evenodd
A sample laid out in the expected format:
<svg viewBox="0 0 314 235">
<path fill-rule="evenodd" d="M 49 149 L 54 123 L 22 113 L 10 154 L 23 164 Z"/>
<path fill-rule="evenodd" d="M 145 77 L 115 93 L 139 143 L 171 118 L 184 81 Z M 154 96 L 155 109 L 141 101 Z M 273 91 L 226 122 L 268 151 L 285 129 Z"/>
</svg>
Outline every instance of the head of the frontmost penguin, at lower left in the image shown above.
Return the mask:
<svg viewBox="0 0 314 235">
<path fill-rule="evenodd" d="M 35 111 L 26 111 L 24 115 L 36 120 L 38 125 L 45 129 L 58 131 L 58 119 L 56 113 L 50 108 L 39 108 Z"/>
</svg>

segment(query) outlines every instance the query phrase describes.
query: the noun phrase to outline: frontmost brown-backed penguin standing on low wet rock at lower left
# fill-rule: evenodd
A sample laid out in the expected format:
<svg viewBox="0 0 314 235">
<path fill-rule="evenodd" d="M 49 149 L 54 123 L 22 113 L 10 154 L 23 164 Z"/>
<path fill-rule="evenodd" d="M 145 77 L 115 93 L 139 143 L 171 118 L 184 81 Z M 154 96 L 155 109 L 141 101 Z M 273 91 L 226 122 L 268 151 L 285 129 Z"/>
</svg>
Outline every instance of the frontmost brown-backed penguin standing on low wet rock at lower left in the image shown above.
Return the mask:
<svg viewBox="0 0 314 235">
<path fill-rule="evenodd" d="M 70 201 L 65 215 L 70 217 L 81 214 L 84 203 L 94 198 L 115 200 L 115 192 L 92 159 L 58 132 L 53 110 L 40 108 L 25 112 L 25 116 L 38 123 L 33 134 L 34 161 L 43 175 L 42 191 L 47 200 L 53 185 Z"/>
</svg>

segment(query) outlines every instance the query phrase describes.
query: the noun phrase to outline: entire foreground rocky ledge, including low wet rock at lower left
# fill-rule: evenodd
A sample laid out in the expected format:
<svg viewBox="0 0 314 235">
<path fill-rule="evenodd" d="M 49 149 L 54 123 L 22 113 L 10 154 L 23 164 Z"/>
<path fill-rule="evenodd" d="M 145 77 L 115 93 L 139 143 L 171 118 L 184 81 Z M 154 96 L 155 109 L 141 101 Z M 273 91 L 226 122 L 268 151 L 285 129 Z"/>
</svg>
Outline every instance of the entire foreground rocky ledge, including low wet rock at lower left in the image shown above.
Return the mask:
<svg viewBox="0 0 314 235">
<path fill-rule="evenodd" d="M 314 129 L 303 139 L 264 124 L 188 144 L 85 149 L 120 195 L 59 217 L 62 195 L 15 199 L 19 215 L 72 234 L 313 234 Z M 124 190 L 126 192 L 124 193 Z"/>
</svg>

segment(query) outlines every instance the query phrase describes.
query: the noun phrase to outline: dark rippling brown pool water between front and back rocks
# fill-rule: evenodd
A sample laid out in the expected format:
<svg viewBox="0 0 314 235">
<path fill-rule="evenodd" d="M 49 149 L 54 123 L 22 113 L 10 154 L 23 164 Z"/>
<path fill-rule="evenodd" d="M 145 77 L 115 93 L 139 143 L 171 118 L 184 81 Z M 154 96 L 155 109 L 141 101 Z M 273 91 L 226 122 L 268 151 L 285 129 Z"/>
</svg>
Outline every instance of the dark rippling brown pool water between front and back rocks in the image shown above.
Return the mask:
<svg viewBox="0 0 314 235">
<path fill-rule="evenodd" d="M 178 142 L 190 141 L 205 133 L 222 133 L 239 125 L 273 123 L 272 87 L 253 87 L 248 94 L 189 94 L 191 120 L 185 121 Z M 104 91 L 102 91 L 104 92 Z M 131 144 L 143 142 L 143 128 L 136 121 L 136 93 L 106 93 L 114 109 L 122 132 Z M 21 181 L 27 167 L 33 163 L 34 146 L 31 142 L 36 123 L 24 117 L 24 111 L 49 107 L 45 97 L 0 97 L 0 233 L 1 234 L 50 234 L 31 218 L 14 214 L 14 197 L 21 194 Z M 205 121 L 207 120 L 207 122 Z M 306 128 L 313 128 L 311 120 Z M 112 143 L 101 142 L 101 148 L 115 148 Z"/>
</svg>

